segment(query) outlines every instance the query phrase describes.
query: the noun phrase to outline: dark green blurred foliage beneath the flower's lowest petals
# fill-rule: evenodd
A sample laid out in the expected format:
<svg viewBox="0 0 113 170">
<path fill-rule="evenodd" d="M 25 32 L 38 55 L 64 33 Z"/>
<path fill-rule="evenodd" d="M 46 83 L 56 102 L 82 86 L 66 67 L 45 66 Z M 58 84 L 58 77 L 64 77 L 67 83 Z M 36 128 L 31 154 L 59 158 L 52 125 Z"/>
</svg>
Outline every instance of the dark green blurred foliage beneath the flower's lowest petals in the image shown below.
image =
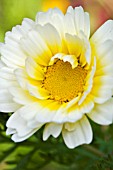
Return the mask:
<svg viewBox="0 0 113 170">
<path fill-rule="evenodd" d="M 24 142 L 14 143 L 5 135 L 8 117 L 0 113 L 0 162 L 6 163 L 3 170 L 113 169 L 113 125 L 103 127 L 91 122 L 92 144 L 68 149 L 61 136 L 42 141 L 43 129 Z"/>
</svg>

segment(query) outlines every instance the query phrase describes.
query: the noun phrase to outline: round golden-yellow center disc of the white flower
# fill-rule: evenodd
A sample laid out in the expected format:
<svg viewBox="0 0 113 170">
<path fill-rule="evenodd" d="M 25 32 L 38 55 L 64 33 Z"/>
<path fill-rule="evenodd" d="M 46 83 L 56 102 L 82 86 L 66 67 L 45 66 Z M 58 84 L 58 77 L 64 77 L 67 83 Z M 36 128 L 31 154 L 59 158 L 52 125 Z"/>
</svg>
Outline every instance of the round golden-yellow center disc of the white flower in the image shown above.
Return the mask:
<svg viewBox="0 0 113 170">
<path fill-rule="evenodd" d="M 60 102 L 69 102 L 84 91 L 87 71 L 77 66 L 72 69 L 69 62 L 57 60 L 47 67 L 43 87 L 50 93 L 50 98 Z"/>
</svg>

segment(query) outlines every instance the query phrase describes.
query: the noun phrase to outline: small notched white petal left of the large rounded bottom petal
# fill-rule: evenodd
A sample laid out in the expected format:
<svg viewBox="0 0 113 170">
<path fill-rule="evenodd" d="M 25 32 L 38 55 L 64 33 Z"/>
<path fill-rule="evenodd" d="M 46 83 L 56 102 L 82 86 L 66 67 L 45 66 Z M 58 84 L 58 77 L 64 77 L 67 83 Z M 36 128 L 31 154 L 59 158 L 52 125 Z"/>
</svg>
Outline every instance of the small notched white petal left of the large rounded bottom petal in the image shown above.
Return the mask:
<svg viewBox="0 0 113 170">
<path fill-rule="evenodd" d="M 63 124 L 49 123 L 45 125 L 43 132 L 43 140 L 47 140 L 50 135 L 57 138 L 62 131 Z"/>
</svg>

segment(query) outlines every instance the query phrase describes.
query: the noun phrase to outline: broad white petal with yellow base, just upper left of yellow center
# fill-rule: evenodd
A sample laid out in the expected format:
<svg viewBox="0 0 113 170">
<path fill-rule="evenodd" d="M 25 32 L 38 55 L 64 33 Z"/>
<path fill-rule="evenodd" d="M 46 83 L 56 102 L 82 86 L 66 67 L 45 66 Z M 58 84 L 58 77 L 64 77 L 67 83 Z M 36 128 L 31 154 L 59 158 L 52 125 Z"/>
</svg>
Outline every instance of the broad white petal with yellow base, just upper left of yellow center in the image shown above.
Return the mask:
<svg viewBox="0 0 113 170">
<path fill-rule="evenodd" d="M 48 65 L 52 53 L 36 28 L 29 31 L 28 35 L 21 39 L 20 44 L 28 56 L 34 58 L 41 65 Z"/>
</svg>

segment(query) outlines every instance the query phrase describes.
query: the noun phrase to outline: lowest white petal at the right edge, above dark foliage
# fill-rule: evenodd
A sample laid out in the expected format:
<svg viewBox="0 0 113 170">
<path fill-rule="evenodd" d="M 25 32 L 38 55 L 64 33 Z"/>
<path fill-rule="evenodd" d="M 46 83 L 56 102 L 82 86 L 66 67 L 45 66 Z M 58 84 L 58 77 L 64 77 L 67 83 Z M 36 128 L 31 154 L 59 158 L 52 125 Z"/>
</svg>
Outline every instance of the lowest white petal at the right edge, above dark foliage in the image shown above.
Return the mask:
<svg viewBox="0 0 113 170">
<path fill-rule="evenodd" d="M 103 104 L 95 104 L 94 109 L 87 115 L 100 125 L 113 123 L 113 98 Z"/>
</svg>

